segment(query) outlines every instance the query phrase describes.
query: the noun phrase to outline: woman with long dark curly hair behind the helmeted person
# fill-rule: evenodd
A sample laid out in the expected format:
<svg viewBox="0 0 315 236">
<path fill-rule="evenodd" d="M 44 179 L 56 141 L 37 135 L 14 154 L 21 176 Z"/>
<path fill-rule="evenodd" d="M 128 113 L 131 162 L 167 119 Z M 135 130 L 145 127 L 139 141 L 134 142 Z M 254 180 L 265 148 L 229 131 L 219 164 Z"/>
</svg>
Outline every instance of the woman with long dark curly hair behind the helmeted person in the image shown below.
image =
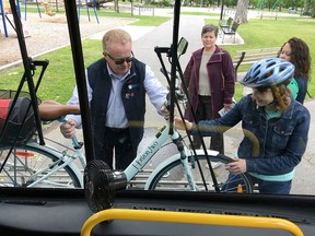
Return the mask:
<svg viewBox="0 0 315 236">
<path fill-rule="evenodd" d="M 291 81 L 289 87 L 292 90 L 293 97 L 303 104 L 307 93 L 307 83 L 311 81 L 311 55 L 308 46 L 301 38 L 292 37 L 283 44 L 278 57 L 295 66 L 294 79 Z"/>
</svg>

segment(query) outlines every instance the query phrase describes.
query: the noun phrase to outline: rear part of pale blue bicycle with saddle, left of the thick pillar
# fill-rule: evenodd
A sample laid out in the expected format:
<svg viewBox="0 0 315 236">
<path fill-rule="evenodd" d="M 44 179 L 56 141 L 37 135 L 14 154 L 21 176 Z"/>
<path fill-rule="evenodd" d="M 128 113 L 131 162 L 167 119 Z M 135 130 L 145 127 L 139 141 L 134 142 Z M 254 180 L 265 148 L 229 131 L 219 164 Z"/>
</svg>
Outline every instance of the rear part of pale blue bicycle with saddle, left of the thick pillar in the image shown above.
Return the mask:
<svg viewBox="0 0 315 236">
<path fill-rule="evenodd" d="M 56 119 L 66 122 L 62 116 L 78 113 L 78 106 L 60 105 L 52 101 L 44 101 L 39 105 L 40 118 L 46 122 Z M 51 144 L 38 144 L 35 133 L 24 145 L 18 144 L 12 150 L 9 145 L 0 146 L 0 166 L 5 164 L 0 173 L 1 187 L 83 187 L 82 172 L 74 164 L 79 160 L 82 169 L 86 165 L 81 151 L 83 143 L 75 135 L 71 138 L 73 149 L 48 138 L 45 141 Z"/>
</svg>

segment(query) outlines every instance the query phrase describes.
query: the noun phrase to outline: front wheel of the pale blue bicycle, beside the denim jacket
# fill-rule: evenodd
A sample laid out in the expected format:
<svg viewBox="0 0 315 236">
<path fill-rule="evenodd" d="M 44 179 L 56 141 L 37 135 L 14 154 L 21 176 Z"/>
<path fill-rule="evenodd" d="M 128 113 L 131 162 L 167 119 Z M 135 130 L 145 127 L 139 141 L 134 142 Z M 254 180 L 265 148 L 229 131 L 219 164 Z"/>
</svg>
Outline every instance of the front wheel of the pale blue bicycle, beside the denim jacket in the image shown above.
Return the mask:
<svg viewBox="0 0 315 236">
<path fill-rule="evenodd" d="M 215 156 L 208 155 L 208 157 L 211 162 L 213 172 L 215 174 L 220 192 L 243 192 L 243 193 L 253 192 L 253 186 L 250 184 L 250 180 L 247 178 L 246 174 L 231 175 L 225 169 L 224 164 L 233 162 L 231 157 L 220 154 Z M 198 168 L 197 158 L 200 163 L 201 169 L 205 175 L 208 188 L 207 190 L 213 192 L 218 191 L 214 189 L 209 167 L 207 167 L 208 162 L 206 155 L 203 154 L 197 156 L 188 156 L 188 158 L 190 161 L 195 161 L 194 162 L 195 166 L 192 167 L 190 164 L 191 166 L 190 169 L 192 172 L 192 176 L 197 186 L 197 191 L 206 191 L 200 175 L 200 170 Z M 156 174 L 154 174 L 153 172 L 152 175 L 154 176 L 149 178 L 151 180 L 150 182 L 148 182 L 149 190 L 190 191 L 179 156 L 178 158 L 174 158 L 171 163 L 162 167 Z M 242 187 L 240 186 L 240 184 L 242 185 Z"/>
</svg>

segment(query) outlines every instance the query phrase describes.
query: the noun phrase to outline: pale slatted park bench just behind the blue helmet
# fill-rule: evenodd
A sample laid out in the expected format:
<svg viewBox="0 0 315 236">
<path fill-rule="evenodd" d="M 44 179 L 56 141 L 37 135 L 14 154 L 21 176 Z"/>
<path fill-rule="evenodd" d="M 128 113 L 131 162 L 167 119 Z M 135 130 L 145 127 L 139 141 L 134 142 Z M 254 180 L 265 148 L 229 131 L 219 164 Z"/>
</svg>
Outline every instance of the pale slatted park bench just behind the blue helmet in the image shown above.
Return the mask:
<svg viewBox="0 0 315 236">
<path fill-rule="evenodd" d="M 241 64 L 253 64 L 264 58 L 278 57 L 280 48 L 281 47 L 272 47 L 236 51 L 233 57 L 235 81 L 237 81 L 237 70 Z"/>
</svg>

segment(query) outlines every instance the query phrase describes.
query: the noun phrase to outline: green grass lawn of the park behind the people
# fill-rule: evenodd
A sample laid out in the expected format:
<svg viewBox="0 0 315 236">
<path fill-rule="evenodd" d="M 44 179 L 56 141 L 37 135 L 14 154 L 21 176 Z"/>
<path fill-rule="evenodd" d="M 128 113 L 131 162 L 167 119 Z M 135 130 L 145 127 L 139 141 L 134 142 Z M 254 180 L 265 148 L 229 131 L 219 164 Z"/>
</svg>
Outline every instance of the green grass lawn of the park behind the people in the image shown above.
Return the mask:
<svg viewBox="0 0 315 236">
<path fill-rule="evenodd" d="M 34 9 L 37 12 L 36 9 Z M 82 10 L 83 13 L 83 10 Z M 97 12 L 98 15 L 112 14 L 110 16 L 130 17 L 130 13 L 114 13 L 103 10 Z M 197 14 L 198 12 L 185 12 L 185 14 Z M 132 16 L 139 19 L 132 25 L 159 25 L 170 17 L 161 16 Z M 218 24 L 218 20 L 206 20 L 206 23 Z M 245 45 L 222 46 L 230 51 L 233 57 L 236 50 L 254 49 L 281 46 L 289 38 L 296 36 L 303 38 L 310 49 L 313 61 L 315 61 L 315 19 L 310 17 L 264 17 L 264 20 L 250 19 L 247 24 L 242 24 L 237 32 L 245 40 Z M 82 43 L 84 54 L 84 66 L 91 64 L 93 61 L 102 57 L 100 52 L 101 42 L 85 39 Z M 153 50 L 153 49 L 152 49 Z M 42 99 L 56 99 L 59 103 L 66 103 L 71 96 L 74 81 L 74 71 L 72 64 L 72 56 L 70 47 L 65 47 L 50 54 L 38 57 L 37 59 L 47 59 L 50 61 L 48 70 L 45 72 L 45 78 L 39 86 L 38 96 Z M 313 62 L 314 64 L 314 62 Z M 241 67 L 238 71 L 246 71 L 248 67 Z M 23 67 L 14 67 L 0 72 L 1 88 L 16 90 L 23 74 Z M 35 79 L 38 72 L 35 74 Z M 308 92 L 315 96 L 315 66 L 312 67 L 313 80 L 310 83 Z M 238 101 L 242 97 L 242 86 L 236 84 L 235 98 Z"/>
</svg>

